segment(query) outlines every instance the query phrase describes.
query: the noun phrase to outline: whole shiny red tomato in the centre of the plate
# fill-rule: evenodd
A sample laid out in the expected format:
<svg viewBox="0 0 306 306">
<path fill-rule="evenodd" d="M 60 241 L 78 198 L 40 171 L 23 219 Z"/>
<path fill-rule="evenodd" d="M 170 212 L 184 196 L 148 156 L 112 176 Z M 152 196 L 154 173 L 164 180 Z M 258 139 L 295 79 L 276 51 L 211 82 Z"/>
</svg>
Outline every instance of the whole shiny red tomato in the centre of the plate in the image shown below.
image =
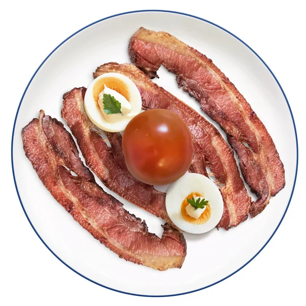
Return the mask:
<svg viewBox="0 0 306 306">
<path fill-rule="evenodd" d="M 129 171 L 149 185 L 175 182 L 188 170 L 193 156 L 186 123 L 162 109 L 135 116 L 124 130 L 122 147 Z"/>
</svg>

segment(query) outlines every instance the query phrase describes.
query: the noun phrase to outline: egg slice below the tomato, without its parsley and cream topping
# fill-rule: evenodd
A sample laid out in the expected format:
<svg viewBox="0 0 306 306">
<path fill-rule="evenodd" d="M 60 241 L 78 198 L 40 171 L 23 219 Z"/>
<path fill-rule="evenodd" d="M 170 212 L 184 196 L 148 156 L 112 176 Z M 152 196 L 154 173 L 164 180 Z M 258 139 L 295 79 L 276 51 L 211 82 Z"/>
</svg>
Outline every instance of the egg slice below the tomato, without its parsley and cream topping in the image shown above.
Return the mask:
<svg viewBox="0 0 306 306">
<path fill-rule="evenodd" d="M 185 211 L 185 204 L 188 204 L 186 198 L 193 195 L 208 200 L 202 218 L 199 219 L 191 218 Z M 198 173 L 186 173 L 170 185 L 166 195 L 166 209 L 171 221 L 182 231 L 202 234 L 213 230 L 221 220 L 223 199 L 218 187 L 208 177 Z"/>
</svg>

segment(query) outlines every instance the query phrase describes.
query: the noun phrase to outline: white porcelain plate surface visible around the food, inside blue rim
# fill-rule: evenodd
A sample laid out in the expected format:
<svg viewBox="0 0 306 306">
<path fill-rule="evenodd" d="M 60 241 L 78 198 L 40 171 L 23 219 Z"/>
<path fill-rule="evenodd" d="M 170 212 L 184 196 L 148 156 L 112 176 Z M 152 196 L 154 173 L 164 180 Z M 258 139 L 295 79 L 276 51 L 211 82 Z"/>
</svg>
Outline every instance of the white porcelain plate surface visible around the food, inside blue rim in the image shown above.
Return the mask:
<svg viewBox="0 0 306 306">
<path fill-rule="evenodd" d="M 74 221 L 38 179 L 20 137 L 22 127 L 37 117 L 40 109 L 63 122 L 60 114 L 63 94 L 74 87 L 87 87 L 97 66 L 110 61 L 130 62 L 128 42 L 141 26 L 169 32 L 213 59 L 264 122 L 286 171 L 286 187 L 271 199 L 262 214 L 228 232 L 214 228 L 203 235 L 185 234 L 187 256 L 182 268 L 164 272 L 120 259 Z M 203 115 L 196 101 L 177 88 L 174 74 L 163 68 L 158 74 L 160 79 L 154 82 Z M 113 290 L 137 295 L 175 295 L 222 281 L 252 260 L 270 240 L 286 213 L 294 189 L 297 139 L 283 90 L 267 65 L 244 42 L 198 17 L 139 11 L 88 25 L 61 43 L 41 64 L 16 114 L 12 164 L 22 208 L 39 238 L 65 265 Z M 128 211 L 146 220 L 149 231 L 161 235 L 162 220 L 121 200 Z M 203 265 L 197 264 L 199 258 Z"/>
</svg>

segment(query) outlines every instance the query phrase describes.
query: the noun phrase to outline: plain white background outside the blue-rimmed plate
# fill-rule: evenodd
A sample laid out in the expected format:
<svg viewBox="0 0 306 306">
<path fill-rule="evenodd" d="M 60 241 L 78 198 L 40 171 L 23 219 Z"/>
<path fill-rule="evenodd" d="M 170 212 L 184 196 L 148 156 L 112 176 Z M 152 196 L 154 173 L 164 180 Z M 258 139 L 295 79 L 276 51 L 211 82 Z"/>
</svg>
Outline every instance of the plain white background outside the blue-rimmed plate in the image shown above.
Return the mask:
<svg viewBox="0 0 306 306">
<path fill-rule="evenodd" d="M 302 304 L 305 285 L 305 9 L 301 1 L 52 1 L 2 4 L 2 176 L 0 304 L 134 305 L 201 302 L 208 305 Z M 41 243 L 15 191 L 10 141 L 21 95 L 43 59 L 66 37 L 103 17 L 140 9 L 175 10 L 215 22 L 249 44 L 283 87 L 299 138 L 299 173 L 287 215 L 265 249 L 245 268 L 200 292 L 168 298 L 124 295 L 77 275 Z M 284 122 L 286 124 L 286 122 Z M 133 275 L 134 277 L 134 275 Z M 144 280 L 148 282 L 149 280 Z"/>
</svg>

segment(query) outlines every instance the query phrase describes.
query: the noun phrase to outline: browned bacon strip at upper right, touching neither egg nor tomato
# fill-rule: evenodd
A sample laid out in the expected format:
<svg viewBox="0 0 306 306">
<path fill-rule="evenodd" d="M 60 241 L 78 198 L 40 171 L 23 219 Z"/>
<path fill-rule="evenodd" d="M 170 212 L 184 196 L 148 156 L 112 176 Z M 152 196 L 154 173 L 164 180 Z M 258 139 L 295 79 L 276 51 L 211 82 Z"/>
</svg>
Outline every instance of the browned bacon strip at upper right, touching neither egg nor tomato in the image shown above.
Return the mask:
<svg viewBox="0 0 306 306">
<path fill-rule="evenodd" d="M 140 28 L 130 39 L 129 55 L 151 78 L 163 65 L 177 83 L 220 124 L 237 152 L 245 181 L 258 196 L 252 217 L 285 186 L 285 171 L 273 140 L 262 121 L 228 78 L 205 55 L 165 32 Z"/>
</svg>

